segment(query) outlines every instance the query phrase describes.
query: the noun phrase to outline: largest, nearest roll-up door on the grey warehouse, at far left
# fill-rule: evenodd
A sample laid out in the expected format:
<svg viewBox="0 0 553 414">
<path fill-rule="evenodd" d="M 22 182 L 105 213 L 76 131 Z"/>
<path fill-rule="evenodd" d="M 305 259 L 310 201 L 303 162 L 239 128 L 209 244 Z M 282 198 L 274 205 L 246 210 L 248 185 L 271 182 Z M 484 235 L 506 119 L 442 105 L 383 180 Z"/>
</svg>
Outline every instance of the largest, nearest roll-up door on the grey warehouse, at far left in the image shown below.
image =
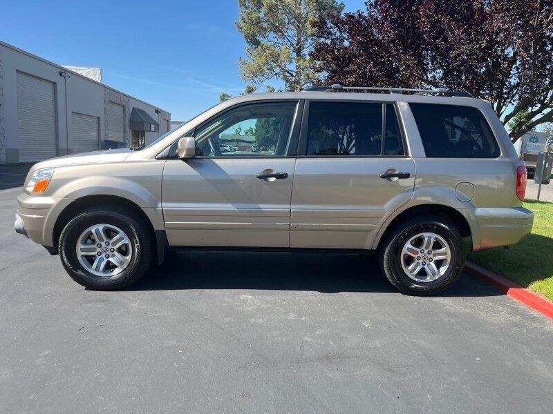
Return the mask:
<svg viewBox="0 0 553 414">
<path fill-rule="evenodd" d="M 56 92 L 53 82 L 17 72 L 19 161 L 57 155 Z"/>
</svg>

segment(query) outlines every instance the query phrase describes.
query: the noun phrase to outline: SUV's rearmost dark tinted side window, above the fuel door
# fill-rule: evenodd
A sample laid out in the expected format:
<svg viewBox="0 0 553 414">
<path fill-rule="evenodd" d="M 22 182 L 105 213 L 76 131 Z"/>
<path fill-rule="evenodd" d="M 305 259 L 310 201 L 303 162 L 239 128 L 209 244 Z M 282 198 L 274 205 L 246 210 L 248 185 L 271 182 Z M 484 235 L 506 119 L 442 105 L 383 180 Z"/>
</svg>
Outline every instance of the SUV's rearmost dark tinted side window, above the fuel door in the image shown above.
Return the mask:
<svg viewBox="0 0 553 414">
<path fill-rule="evenodd" d="M 499 146 L 482 112 L 470 106 L 410 103 L 430 158 L 496 158 Z"/>
</svg>

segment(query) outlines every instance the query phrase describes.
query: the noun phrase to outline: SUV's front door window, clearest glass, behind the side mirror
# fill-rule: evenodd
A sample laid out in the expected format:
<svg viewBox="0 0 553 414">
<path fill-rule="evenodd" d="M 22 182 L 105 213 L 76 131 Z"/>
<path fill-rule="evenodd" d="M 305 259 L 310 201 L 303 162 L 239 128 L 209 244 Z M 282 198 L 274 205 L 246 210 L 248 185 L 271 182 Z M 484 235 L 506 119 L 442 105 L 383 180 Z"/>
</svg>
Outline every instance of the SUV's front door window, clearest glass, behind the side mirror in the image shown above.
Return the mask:
<svg viewBox="0 0 553 414">
<path fill-rule="evenodd" d="M 297 102 L 252 103 L 229 110 L 196 130 L 198 157 L 283 157 Z"/>
</svg>

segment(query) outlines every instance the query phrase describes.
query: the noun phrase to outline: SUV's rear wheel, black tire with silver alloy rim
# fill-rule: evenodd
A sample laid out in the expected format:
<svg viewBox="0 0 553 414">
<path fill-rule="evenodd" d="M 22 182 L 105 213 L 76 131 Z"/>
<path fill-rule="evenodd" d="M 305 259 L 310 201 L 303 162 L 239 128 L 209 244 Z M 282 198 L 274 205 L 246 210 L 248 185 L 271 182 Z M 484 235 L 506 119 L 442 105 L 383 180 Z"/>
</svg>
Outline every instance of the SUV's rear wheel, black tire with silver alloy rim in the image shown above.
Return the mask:
<svg viewBox="0 0 553 414">
<path fill-rule="evenodd" d="M 431 235 L 436 236 L 432 246 L 435 251 L 429 254 L 431 249 L 424 250 L 423 247 L 425 240 L 432 240 Z M 409 253 L 402 254 L 408 242 L 413 242 L 409 246 Z M 447 244 L 445 250 L 442 244 Z M 413 246 L 420 248 L 418 253 L 412 251 Z M 421 250 L 424 253 L 420 253 Z M 448 250 L 449 257 L 441 259 Z M 434 295 L 456 282 L 465 266 L 465 246 L 461 235 L 451 221 L 437 216 L 417 217 L 395 227 L 384 239 L 379 253 L 382 273 L 397 290 L 406 295 Z M 411 257 L 414 254 L 417 256 Z M 436 259 L 433 259 L 434 255 Z M 418 262 L 418 265 L 414 262 Z M 432 264 L 434 266 L 431 268 Z M 411 273 L 418 269 L 417 266 L 422 268 L 418 274 L 410 276 L 408 270 L 411 265 Z M 431 269 L 438 269 L 438 273 L 431 272 Z"/>
</svg>

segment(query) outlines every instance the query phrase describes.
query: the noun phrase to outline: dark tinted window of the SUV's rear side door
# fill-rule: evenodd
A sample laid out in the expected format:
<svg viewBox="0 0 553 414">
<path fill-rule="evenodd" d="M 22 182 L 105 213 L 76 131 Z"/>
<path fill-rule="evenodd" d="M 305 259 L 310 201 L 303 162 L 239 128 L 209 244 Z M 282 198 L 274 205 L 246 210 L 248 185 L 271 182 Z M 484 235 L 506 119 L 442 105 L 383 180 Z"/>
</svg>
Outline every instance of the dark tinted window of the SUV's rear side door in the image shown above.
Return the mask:
<svg viewBox="0 0 553 414">
<path fill-rule="evenodd" d="M 393 104 L 311 101 L 308 124 L 310 156 L 404 155 Z"/>
</svg>

